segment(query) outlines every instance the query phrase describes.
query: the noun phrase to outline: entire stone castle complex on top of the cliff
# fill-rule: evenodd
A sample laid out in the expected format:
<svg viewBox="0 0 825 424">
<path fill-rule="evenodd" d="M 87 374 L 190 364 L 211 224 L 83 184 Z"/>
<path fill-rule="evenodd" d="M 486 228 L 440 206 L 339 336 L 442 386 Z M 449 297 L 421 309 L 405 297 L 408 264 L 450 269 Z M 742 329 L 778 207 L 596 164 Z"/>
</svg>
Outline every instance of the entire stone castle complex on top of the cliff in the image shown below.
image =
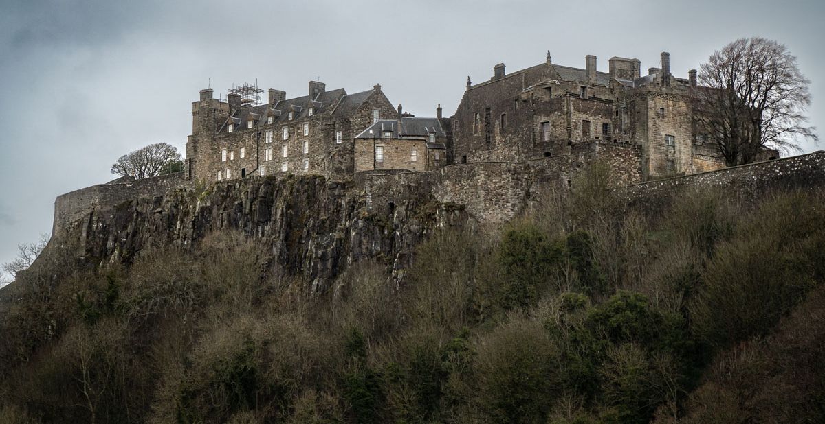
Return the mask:
<svg viewBox="0 0 825 424">
<path fill-rule="evenodd" d="M 349 95 L 312 81 L 306 96 L 287 99 L 270 89 L 263 105 L 237 91 L 224 101 L 202 90 L 192 103 L 186 178 L 346 177 L 554 156 L 582 161 L 586 152 L 610 159 L 622 150 L 633 151 L 637 162 L 625 170 L 634 174 L 625 175 L 625 183 L 723 168 L 695 125 L 696 71 L 675 77 L 670 54 L 661 58 L 661 68 L 648 68 L 645 76 L 634 58 L 610 58 L 609 72 L 596 71 L 592 55 L 585 68 L 555 64 L 549 52 L 544 63 L 512 73 L 499 63 L 489 81 L 474 85 L 468 77 L 450 118 L 441 116 L 440 105 L 433 118 L 404 114 L 380 85 Z"/>
</svg>

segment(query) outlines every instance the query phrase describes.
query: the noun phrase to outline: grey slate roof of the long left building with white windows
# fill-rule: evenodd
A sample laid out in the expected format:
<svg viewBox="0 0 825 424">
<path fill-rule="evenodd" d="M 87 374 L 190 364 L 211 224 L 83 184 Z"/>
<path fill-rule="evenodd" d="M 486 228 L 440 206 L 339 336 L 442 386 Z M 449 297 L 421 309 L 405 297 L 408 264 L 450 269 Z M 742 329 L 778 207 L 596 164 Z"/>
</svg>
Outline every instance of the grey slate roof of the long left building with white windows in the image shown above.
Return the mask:
<svg viewBox="0 0 825 424">
<path fill-rule="evenodd" d="M 372 93 L 373 90 L 367 90 L 347 95 L 346 90 L 337 88 L 335 90 L 318 93 L 318 96 L 314 99 L 310 99 L 309 96 L 300 96 L 280 100 L 273 106 L 267 104 L 242 107 L 235 110 L 229 119 L 235 124 L 236 129 L 240 130 L 247 128 L 247 121 L 249 119 L 254 121 L 253 126 L 257 126 L 262 119 L 264 120 L 263 124 L 266 124 L 266 116 L 269 114 L 275 117 L 273 123 L 289 122 L 289 114 L 286 113 L 288 111 L 294 112 L 293 120 L 301 119 L 309 116 L 309 108 L 313 108 L 313 115 L 332 110 L 332 114 L 335 116 L 346 116 L 361 107 Z M 229 123 L 229 119 L 221 126 L 219 133 L 226 131 L 226 124 Z"/>
</svg>

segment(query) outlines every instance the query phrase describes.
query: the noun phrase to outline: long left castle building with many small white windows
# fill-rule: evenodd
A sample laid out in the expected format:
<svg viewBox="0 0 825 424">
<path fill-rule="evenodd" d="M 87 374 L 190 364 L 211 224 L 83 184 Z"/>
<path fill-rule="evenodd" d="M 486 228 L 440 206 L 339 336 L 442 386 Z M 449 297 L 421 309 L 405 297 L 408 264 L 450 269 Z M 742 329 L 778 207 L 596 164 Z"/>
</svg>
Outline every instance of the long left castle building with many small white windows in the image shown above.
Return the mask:
<svg viewBox="0 0 825 424">
<path fill-rule="evenodd" d="M 247 175 L 328 177 L 355 171 L 353 136 L 374 117 L 398 118 L 381 86 L 348 95 L 309 82 L 309 95 L 286 99 L 270 89 L 265 105 L 248 105 L 230 94 L 215 100 L 200 91 L 192 103 L 192 135 L 186 142 L 186 176 L 193 180 Z"/>
</svg>

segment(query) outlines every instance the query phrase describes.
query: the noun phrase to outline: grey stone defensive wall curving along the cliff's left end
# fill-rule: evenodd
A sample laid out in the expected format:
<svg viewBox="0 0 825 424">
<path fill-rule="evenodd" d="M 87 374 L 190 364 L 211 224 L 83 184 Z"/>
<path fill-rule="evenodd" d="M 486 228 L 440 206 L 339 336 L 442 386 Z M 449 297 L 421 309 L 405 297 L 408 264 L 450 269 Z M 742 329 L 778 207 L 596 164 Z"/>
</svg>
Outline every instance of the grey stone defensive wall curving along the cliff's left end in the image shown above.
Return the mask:
<svg viewBox="0 0 825 424">
<path fill-rule="evenodd" d="M 135 179 L 127 183 L 97 184 L 65 193 L 54 199 L 52 235 L 60 235 L 68 224 L 86 216 L 93 209 L 108 209 L 128 200 L 153 198 L 178 189 L 188 189 L 191 182 L 183 172 Z"/>
</svg>

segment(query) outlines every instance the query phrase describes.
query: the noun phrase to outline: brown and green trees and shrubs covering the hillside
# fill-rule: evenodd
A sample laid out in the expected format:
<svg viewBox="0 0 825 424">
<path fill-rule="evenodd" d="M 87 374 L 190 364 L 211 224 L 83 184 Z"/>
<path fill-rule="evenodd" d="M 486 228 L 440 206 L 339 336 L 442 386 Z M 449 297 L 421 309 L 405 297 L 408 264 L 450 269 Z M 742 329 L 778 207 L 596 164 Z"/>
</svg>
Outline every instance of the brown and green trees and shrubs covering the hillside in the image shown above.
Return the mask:
<svg viewBox="0 0 825 424">
<path fill-rule="evenodd" d="M 825 193 L 628 205 L 593 166 L 401 287 L 234 233 L 2 290 L 0 422 L 825 422 Z"/>
</svg>

